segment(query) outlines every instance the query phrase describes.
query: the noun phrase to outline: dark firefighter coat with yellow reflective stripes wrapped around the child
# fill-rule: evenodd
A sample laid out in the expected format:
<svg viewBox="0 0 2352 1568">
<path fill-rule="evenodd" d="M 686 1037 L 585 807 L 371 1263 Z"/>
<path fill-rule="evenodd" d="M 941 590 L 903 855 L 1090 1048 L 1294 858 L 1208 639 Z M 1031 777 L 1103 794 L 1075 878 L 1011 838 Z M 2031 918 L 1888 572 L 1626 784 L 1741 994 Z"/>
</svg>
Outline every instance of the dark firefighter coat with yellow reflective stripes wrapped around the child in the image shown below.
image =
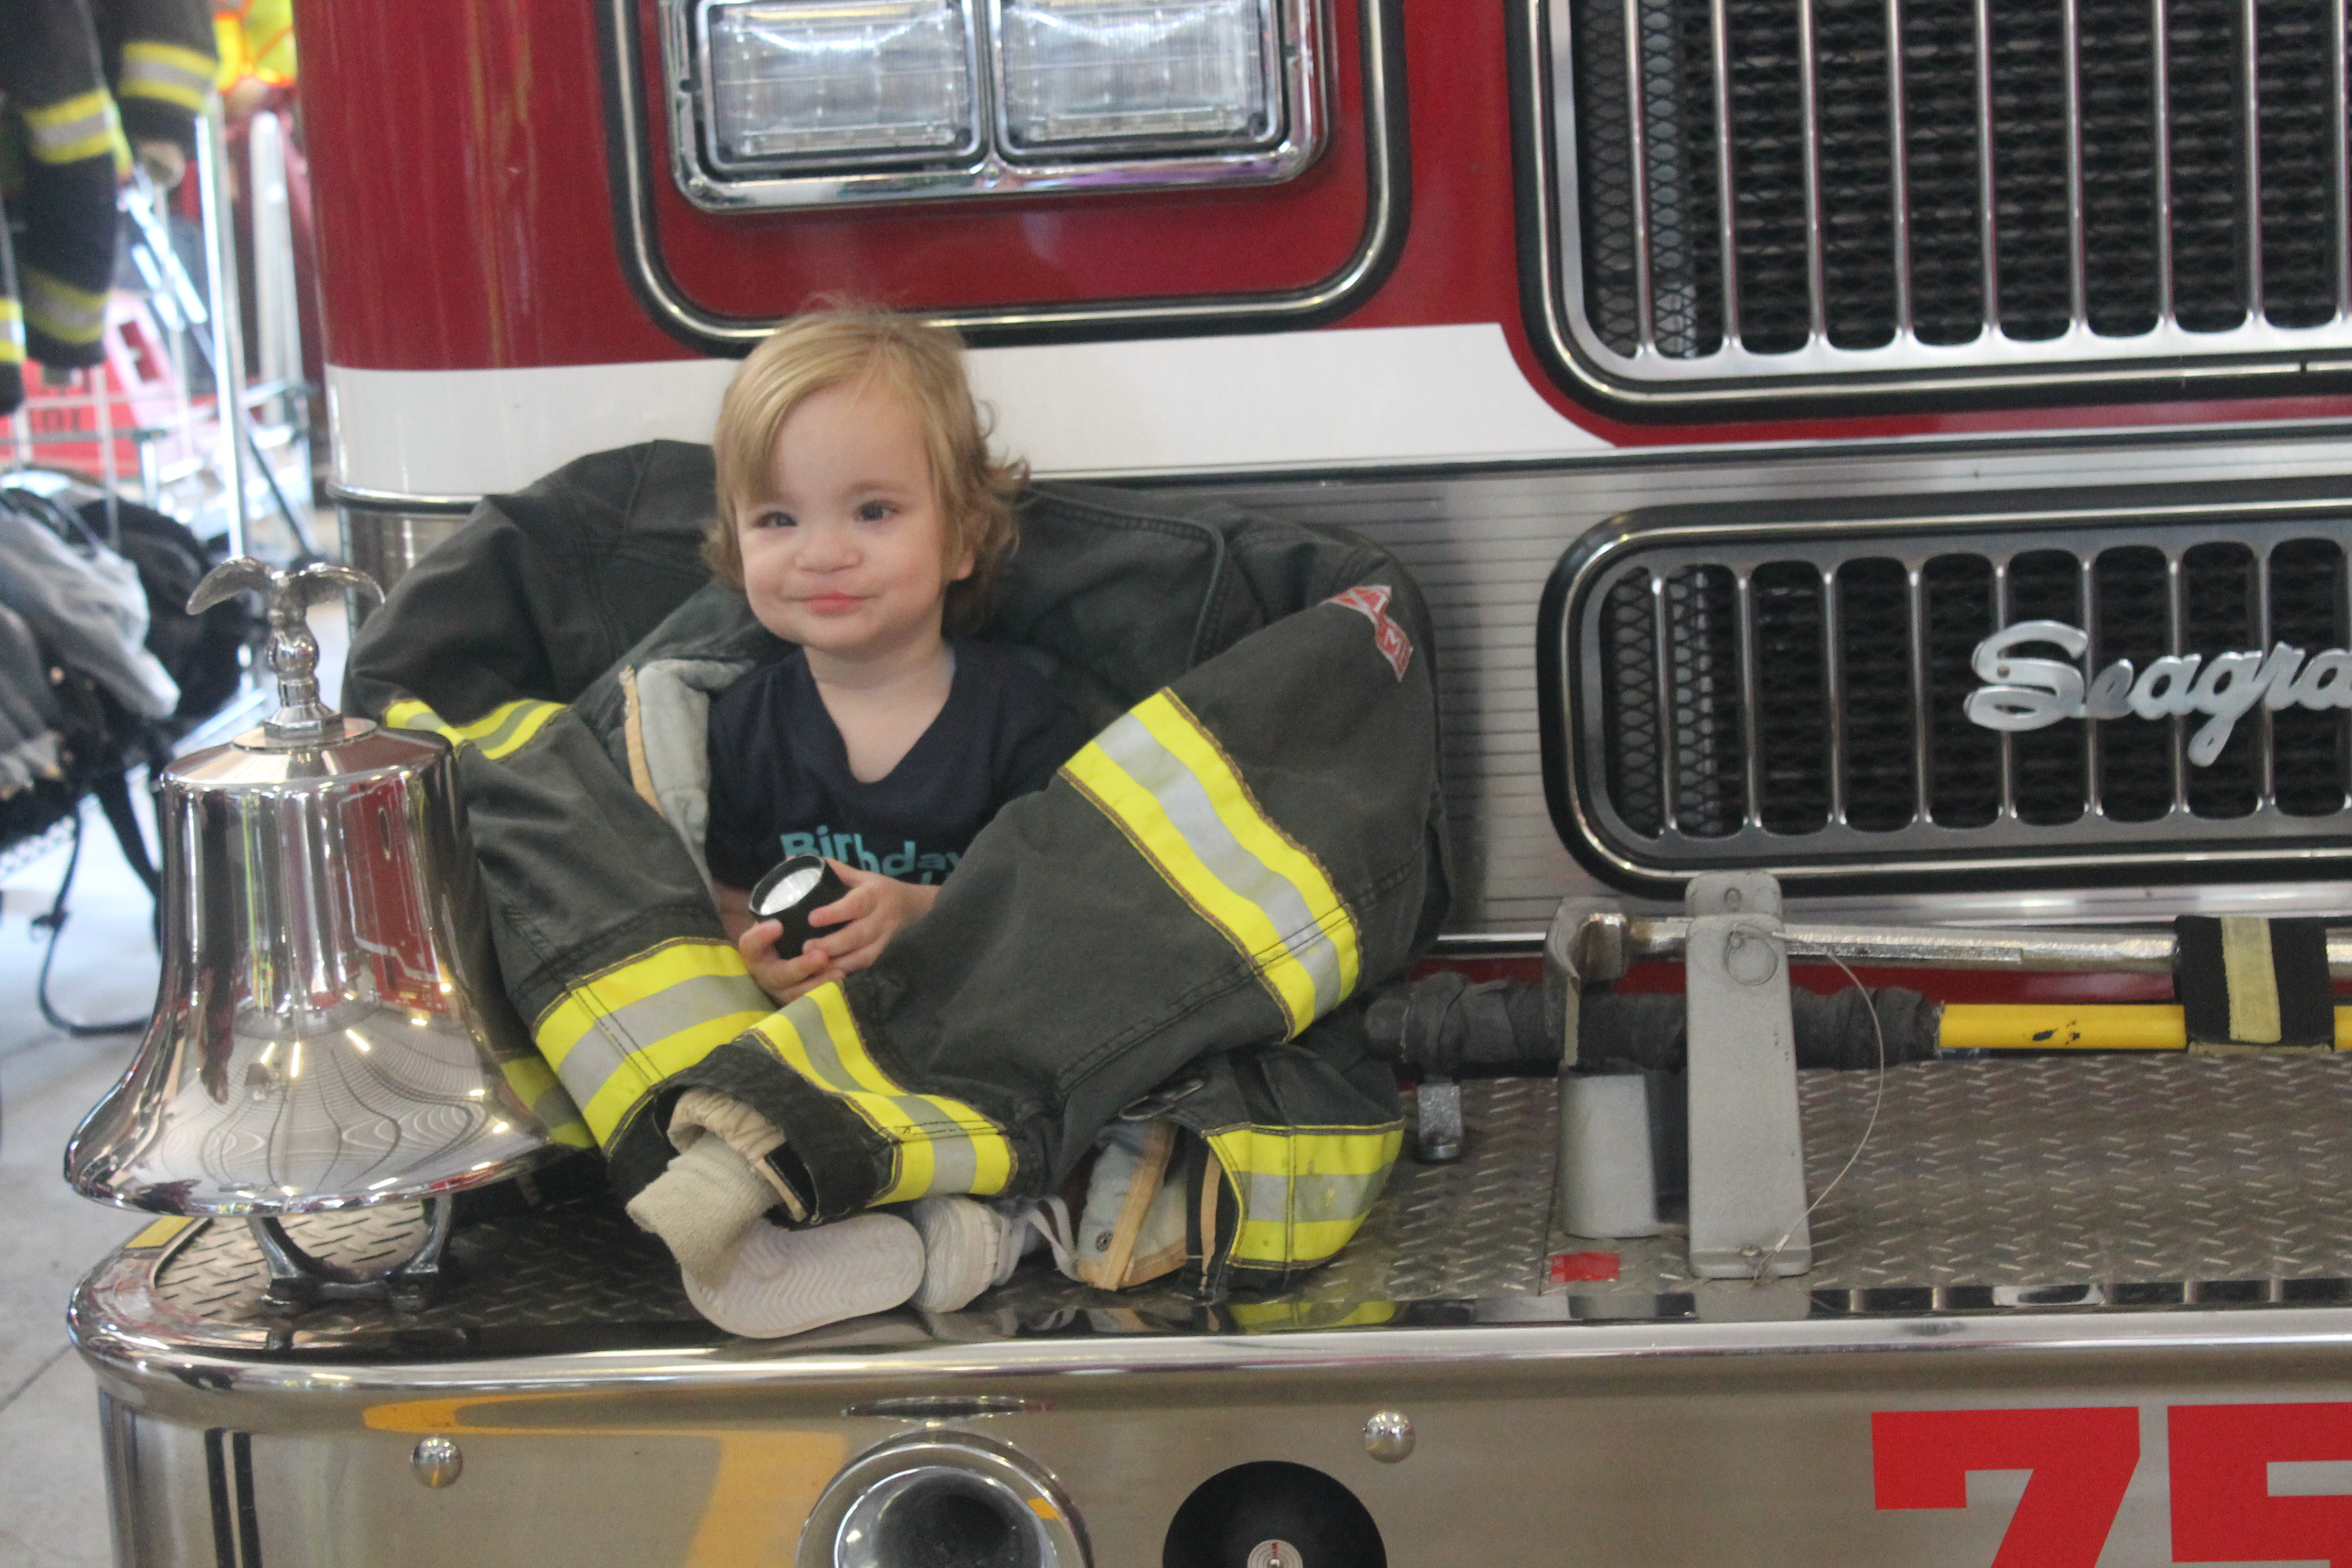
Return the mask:
<svg viewBox="0 0 2352 1568">
<path fill-rule="evenodd" d="M 1124 1114 L 1181 1128 L 1211 1284 L 1338 1253 L 1402 1140 L 1359 997 L 1446 903 L 1428 616 L 1397 562 L 1033 489 L 985 635 L 1098 733 L 880 961 L 776 1009 L 701 867 L 708 701 L 776 646 L 696 588 L 710 510 L 708 449 L 670 442 L 492 498 L 346 675 L 456 748 L 506 992 L 616 1190 L 663 1171 L 689 1088 L 783 1131 L 795 1222 L 1042 1197 Z"/>
</svg>

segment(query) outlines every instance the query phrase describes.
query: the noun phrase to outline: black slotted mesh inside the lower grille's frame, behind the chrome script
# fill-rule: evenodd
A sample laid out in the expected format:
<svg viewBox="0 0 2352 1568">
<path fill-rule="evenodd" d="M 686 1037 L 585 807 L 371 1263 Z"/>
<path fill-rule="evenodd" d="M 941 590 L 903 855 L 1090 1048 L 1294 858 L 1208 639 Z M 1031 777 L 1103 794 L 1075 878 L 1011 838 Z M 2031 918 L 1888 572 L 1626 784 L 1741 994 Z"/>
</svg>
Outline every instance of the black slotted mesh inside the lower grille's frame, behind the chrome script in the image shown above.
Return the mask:
<svg viewBox="0 0 2352 1568">
<path fill-rule="evenodd" d="M 2223 823 L 2258 811 L 2265 790 L 2281 813 L 2331 816 L 2347 809 L 2352 776 L 2345 710 L 2258 705 L 2209 766 L 2194 766 L 2185 748 L 2204 715 L 2002 733 L 1971 722 L 1966 701 L 1983 684 L 1976 646 L 2020 621 L 2086 628 L 2093 670 L 2129 658 L 2145 672 L 2166 656 L 2279 642 L 2307 656 L 2343 649 L 2347 578 L 2333 538 L 2288 538 L 2267 552 L 2239 541 L 2173 555 L 1952 550 L 1917 567 L 1771 559 L 1745 583 L 1726 564 L 1663 576 L 1632 567 L 1595 609 L 1602 780 L 1616 818 L 1642 839 L 1670 825 L 1689 839 L 1743 827 L 1804 839 L 1919 820 L 2065 827 L 2086 813 Z"/>
</svg>

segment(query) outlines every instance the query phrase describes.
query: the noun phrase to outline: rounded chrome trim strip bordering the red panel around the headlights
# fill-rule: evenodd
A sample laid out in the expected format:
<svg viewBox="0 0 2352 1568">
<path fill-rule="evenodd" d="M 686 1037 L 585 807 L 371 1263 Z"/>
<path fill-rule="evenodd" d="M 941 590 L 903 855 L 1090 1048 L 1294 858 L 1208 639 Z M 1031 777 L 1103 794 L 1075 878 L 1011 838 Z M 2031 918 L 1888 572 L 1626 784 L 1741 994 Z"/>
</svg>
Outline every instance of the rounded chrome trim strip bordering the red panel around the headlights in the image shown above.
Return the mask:
<svg viewBox="0 0 2352 1568">
<path fill-rule="evenodd" d="M 1077 303 L 1077 306 L 1004 306 L 934 310 L 936 320 L 957 331 L 1117 331 L 1197 324 L 1214 329 L 1223 322 L 1251 324 L 1310 324 L 1327 310 L 1350 303 L 1388 266 L 1390 249 L 1402 237 L 1399 223 L 1399 150 L 1397 122 L 1402 108 L 1395 94 L 1402 85 L 1390 82 L 1388 12 L 1383 0 L 1357 0 L 1364 45 L 1364 240 L 1348 261 L 1305 289 L 1277 294 L 1237 294 L 1223 299 L 1181 299 L 1152 303 Z M 607 0 L 604 26 L 609 40 L 604 66 L 612 71 L 609 106 L 616 122 L 614 176 L 619 200 L 626 207 L 626 230 L 621 233 L 621 259 L 642 292 L 647 315 L 666 331 L 694 341 L 703 348 L 748 350 L 776 329 L 781 315 L 734 317 L 717 315 L 687 299 L 670 280 L 654 242 L 654 193 L 647 179 L 649 148 L 644 136 L 642 85 L 644 71 L 635 33 L 637 0 Z"/>
</svg>

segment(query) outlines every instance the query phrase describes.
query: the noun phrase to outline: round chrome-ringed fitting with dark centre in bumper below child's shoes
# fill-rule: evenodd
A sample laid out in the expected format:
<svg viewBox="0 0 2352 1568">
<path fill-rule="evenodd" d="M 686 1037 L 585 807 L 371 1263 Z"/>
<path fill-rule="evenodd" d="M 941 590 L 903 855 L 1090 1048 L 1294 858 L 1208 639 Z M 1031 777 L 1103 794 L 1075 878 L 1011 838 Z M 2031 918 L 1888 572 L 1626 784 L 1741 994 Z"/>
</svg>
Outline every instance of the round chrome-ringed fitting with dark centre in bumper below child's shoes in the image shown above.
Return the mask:
<svg viewBox="0 0 2352 1568">
<path fill-rule="evenodd" d="M 816 1500 L 797 1568 L 1089 1568 L 1070 1502 L 1004 1443 L 931 1432 L 873 1448 Z"/>
</svg>

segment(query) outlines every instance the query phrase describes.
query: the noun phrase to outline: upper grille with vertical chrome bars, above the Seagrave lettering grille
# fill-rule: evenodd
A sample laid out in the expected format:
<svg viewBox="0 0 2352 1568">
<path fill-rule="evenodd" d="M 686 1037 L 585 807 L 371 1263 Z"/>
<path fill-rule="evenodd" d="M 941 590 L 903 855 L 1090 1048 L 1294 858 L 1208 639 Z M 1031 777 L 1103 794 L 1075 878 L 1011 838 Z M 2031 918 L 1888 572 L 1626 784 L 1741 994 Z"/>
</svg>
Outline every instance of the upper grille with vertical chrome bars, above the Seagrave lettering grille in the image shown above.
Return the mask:
<svg viewBox="0 0 2352 1568">
<path fill-rule="evenodd" d="M 2352 348 L 2345 0 L 1545 5 L 1562 306 L 1618 388 Z"/>
</svg>

